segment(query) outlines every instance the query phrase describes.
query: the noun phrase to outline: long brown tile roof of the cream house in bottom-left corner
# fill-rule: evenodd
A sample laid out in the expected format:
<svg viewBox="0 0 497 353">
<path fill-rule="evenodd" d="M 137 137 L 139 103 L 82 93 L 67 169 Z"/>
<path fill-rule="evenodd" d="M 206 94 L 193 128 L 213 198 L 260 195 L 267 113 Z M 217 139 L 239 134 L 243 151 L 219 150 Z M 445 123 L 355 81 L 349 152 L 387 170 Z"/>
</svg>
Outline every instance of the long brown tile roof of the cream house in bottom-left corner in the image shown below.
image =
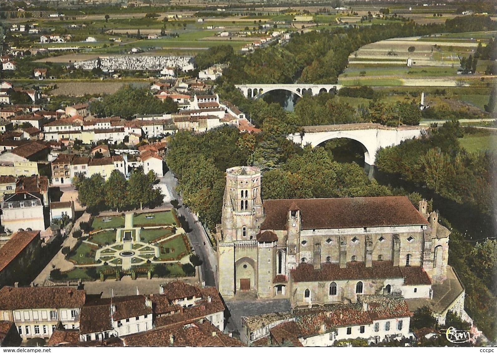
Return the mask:
<svg viewBox="0 0 497 353">
<path fill-rule="evenodd" d="M 1 310 L 81 308 L 84 300 L 85 291 L 73 287 L 5 286 L 0 289 Z"/>
</svg>

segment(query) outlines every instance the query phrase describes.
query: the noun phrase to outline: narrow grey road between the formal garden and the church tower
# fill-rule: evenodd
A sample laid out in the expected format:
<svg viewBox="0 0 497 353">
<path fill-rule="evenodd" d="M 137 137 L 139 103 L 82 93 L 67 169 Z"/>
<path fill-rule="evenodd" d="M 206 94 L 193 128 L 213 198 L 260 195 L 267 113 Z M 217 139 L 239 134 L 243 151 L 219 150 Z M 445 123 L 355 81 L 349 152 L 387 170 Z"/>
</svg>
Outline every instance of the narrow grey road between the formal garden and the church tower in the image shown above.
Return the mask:
<svg viewBox="0 0 497 353">
<path fill-rule="evenodd" d="M 180 206 L 177 210 L 178 215 L 185 217 L 188 226 L 191 229 L 188 233 L 188 238 L 190 239 L 190 243 L 193 246 L 195 253 L 199 256 L 200 260 L 202 260 L 203 264 L 200 267 L 200 271 L 202 272 L 202 278 L 205 281 L 205 285 L 217 287 L 217 259 L 204 227 L 198 221 L 197 216 L 183 206 L 183 200 L 175 190 L 177 180 L 171 171 L 167 171 L 166 175 L 161 179 L 161 181 L 166 184 L 172 197 L 178 200 Z"/>
</svg>

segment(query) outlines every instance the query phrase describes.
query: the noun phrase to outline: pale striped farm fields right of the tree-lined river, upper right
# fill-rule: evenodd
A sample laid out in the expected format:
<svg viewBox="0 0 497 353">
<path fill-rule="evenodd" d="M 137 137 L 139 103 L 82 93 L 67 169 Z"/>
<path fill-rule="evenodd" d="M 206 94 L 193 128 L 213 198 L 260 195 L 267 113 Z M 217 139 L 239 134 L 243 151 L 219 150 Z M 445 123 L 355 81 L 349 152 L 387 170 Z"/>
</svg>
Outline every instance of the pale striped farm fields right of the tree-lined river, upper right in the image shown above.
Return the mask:
<svg viewBox="0 0 497 353">
<path fill-rule="evenodd" d="M 393 38 L 365 45 L 349 56 L 349 66 L 339 76 L 342 85 L 491 87 L 496 77 L 485 75 L 490 62 L 478 61 L 477 73 L 461 75 L 460 57 L 474 54 L 479 43 L 497 32 L 468 32 L 426 37 Z M 407 67 L 408 58 L 412 67 Z M 465 102 L 483 109 L 488 95 Z"/>
</svg>

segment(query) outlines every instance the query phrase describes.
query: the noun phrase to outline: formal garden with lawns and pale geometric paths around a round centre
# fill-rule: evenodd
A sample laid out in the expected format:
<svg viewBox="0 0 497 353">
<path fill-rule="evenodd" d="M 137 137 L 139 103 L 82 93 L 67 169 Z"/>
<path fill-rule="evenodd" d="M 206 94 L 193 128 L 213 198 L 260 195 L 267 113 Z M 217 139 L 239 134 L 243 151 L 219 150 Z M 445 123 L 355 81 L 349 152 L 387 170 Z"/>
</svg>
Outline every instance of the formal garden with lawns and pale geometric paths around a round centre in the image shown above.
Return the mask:
<svg viewBox="0 0 497 353">
<path fill-rule="evenodd" d="M 68 272 L 55 269 L 54 281 L 139 277 L 186 277 L 201 264 L 175 211 L 128 213 L 90 217 L 75 231 L 76 246 L 64 248 L 74 264 Z"/>
</svg>

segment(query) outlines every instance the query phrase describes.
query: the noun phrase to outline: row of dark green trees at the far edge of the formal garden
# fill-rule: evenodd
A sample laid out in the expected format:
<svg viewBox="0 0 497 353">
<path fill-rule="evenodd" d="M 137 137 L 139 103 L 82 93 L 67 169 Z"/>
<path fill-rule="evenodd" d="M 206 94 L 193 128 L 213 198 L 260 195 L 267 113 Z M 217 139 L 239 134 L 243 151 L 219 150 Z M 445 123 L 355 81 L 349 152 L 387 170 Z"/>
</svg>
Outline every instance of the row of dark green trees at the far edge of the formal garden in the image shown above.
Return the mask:
<svg viewBox="0 0 497 353">
<path fill-rule="evenodd" d="M 153 171 L 144 174 L 137 169 L 131 173 L 129 180 L 120 171 L 113 170 L 107 181 L 100 174 L 89 178 L 79 174 L 73 183 L 78 190 L 78 201 L 93 213 L 161 205 L 164 195 L 160 189 L 154 188 L 155 180 Z"/>
</svg>

